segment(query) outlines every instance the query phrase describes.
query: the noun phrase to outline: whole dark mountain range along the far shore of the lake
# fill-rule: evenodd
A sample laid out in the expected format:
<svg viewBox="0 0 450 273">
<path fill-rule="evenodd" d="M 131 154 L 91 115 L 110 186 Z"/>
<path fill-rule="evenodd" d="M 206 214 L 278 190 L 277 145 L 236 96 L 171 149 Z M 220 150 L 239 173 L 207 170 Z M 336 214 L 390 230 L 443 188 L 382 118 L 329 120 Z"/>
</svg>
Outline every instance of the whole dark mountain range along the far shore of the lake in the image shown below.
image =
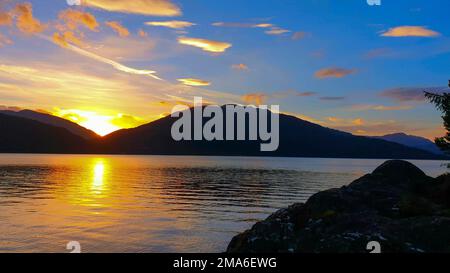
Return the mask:
<svg viewBox="0 0 450 273">
<path fill-rule="evenodd" d="M 158 155 L 278 156 L 443 159 L 442 155 L 384 139 L 350 133 L 280 115 L 280 146 L 260 152 L 259 141 L 174 141 L 176 119 L 165 117 L 103 138 L 73 122 L 33 111 L 0 113 L 0 152 Z M 19 113 L 21 113 L 19 112 Z M 40 120 L 38 120 L 40 119 Z M 81 128 L 79 128 L 81 127 Z"/>
</svg>

